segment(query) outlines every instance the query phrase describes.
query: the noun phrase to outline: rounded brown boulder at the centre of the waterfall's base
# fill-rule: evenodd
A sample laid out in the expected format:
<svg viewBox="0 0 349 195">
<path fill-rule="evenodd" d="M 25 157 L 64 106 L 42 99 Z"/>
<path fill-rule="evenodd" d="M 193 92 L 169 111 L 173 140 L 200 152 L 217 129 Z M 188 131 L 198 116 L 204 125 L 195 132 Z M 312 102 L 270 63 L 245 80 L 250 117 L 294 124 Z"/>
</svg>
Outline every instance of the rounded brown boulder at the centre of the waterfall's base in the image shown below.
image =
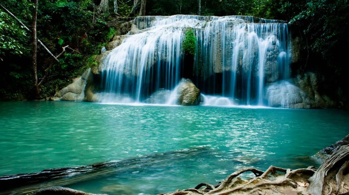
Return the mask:
<svg viewBox="0 0 349 195">
<path fill-rule="evenodd" d="M 195 106 L 200 103 L 200 90 L 190 79 L 182 78 L 178 84 L 177 103 L 183 106 Z"/>
</svg>

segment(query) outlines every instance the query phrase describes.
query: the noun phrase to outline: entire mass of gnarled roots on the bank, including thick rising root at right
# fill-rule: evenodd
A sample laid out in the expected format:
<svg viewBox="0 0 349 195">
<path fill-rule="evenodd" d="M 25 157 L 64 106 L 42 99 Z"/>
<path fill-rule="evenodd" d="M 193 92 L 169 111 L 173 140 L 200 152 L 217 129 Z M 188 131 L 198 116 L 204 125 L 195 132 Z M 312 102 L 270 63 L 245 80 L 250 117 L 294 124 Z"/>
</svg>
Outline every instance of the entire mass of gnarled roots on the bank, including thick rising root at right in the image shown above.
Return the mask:
<svg viewBox="0 0 349 195">
<path fill-rule="evenodd" d="M 348 135 L 334 146 L 331 156 L 317 169 L 283 169 L 270 166 L 265 172 L 245 168 L 229 175 L 216 186 L 201 183 L 194 189 L 160 195 L 349 195 Z M 256 177 L 243 180 L 239 175 Z M 279 173 L 278 173 L 279 172 Z M 201 189 L 205 187 L 204 189 Z"/>
</svg>

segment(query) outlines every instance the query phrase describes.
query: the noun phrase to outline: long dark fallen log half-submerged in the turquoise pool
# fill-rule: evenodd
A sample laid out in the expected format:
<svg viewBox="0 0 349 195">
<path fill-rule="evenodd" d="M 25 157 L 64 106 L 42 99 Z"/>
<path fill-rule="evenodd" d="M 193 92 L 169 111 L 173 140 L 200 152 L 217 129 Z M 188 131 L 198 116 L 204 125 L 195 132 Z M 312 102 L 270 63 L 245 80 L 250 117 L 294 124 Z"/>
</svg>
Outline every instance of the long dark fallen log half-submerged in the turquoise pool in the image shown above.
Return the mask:
<svg viewBox="0 0 349 195">
<path fill-rule="evenodd" d="M 47 169 L 37 173 L 16 174 L 0 177 L 0 195 L 24 195 L 41 188 L 68 186 L 79 182 L 105 177 L 135 168 L 145 168 L 154 164 L 167 164 L 173 160 L 207 155 L 208 146 L 193 147 L 164 153 L 155 153 L 121 161 L 110 161 L 87 166 Z"/>
</svg>

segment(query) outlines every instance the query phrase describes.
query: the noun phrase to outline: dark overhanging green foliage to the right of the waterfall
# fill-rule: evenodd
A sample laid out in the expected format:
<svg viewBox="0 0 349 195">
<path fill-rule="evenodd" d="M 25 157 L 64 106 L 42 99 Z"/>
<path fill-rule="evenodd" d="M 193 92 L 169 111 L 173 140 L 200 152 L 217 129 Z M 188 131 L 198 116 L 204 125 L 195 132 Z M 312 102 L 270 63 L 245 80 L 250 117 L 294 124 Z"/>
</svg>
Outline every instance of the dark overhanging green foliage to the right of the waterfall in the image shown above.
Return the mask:
<svg viewBox="0 0 349 195">
<path fill-rule="evenodd" d="M 349 43 L 349 3 L 348 0 L 282 0 L 282 13 L 290 18 L 297 35 L 304 40 L 303 53 L 309 55 L 307 68 L 322 72 L 326 80 L 326 89 L 330 94 L 349 94 L 346 84 L 349 66 L 347 61 Z M 308 62 L 308 61 L 307 61 Z"/>
</svg>

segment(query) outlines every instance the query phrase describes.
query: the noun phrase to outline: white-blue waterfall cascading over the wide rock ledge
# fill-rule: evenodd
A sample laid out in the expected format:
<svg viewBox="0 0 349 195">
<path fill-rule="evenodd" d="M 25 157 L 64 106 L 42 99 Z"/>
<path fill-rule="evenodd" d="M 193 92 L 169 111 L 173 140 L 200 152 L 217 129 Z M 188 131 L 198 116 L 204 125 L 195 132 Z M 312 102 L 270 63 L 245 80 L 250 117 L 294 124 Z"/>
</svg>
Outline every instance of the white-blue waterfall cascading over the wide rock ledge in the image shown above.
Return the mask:
<svg viewBox="0 0 349 195">
<path fill-rule="evenodd" d="M 185 62 L 182 50 L 187 28 L 192 28 L 196 37 L 193 64 Z M 186 75 L 207 95 L 203 99 L 222 97 L 227 101 L 219 104 L 267 106 L 265 88 L 290 74 L 288 25 L 279 20 L 142 16 L 134 20 L 128 34 L 104 61 L 102 102 L 148 102 L 159 90 L 168 91 L 163 97 L 169 98 Z M 185 74 L 187 70 L 192 74 Z"/>
</svg>

